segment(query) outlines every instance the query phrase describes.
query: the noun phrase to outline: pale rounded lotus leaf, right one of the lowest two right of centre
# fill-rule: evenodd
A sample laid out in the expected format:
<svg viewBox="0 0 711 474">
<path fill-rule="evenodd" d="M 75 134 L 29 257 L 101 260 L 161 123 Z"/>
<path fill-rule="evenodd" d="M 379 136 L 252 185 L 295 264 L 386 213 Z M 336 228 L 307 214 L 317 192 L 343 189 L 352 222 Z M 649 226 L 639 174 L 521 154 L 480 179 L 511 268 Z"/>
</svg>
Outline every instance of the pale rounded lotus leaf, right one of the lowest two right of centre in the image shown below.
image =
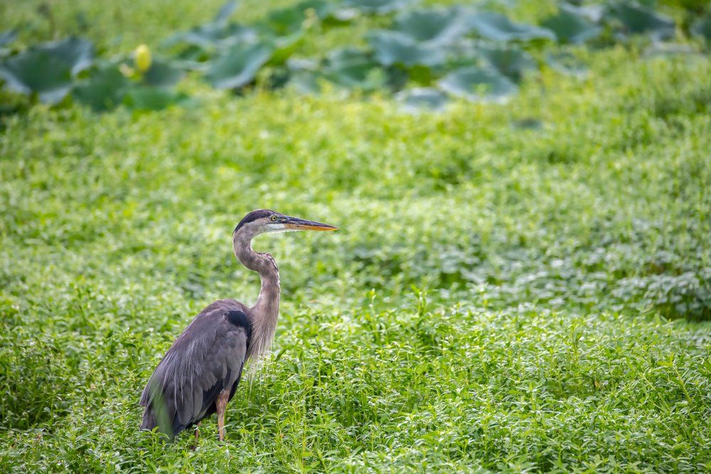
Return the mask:
<svg viewBox="0 0 711 474">
<path fill-rule="evenodd" d="M 518 91 L 508 77 L 496 70 L 469 66 L 450 72 L 439 80 L 439 87 L 448 94 L 473 102 L 503 102 Z"/>
</svg>

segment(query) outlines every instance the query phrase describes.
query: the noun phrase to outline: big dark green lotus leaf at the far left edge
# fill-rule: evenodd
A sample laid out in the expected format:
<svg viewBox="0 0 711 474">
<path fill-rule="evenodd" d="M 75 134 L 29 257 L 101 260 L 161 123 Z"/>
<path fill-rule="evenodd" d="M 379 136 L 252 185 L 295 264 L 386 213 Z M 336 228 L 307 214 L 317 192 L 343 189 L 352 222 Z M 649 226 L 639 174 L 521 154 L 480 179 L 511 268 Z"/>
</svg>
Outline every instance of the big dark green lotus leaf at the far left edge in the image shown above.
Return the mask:
<svg viewBox="0 0 711 474">
<path fill-rule="evenodd" d="M 30 95 L 42 102 L 60 102 L 72 87 L 70 65 L 47 50 L 31 48 L 0 63 L 0 77 L 10 90 Z"/>
</svg>

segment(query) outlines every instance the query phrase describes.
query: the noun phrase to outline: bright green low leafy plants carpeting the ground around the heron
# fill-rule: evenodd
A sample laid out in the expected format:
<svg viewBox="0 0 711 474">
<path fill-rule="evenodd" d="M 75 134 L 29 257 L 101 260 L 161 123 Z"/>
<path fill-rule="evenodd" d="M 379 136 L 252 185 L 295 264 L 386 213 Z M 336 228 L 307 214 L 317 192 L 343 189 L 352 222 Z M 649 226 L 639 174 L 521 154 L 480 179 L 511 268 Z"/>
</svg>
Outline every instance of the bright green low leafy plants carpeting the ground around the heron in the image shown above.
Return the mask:
<svg viewBox="0 0 711 474">
<path fill-rule="evenodd" d="M 220 9 L 10 3 L 9 44 L 82 33 L 104 58 L 155 52 Z M 398 96 L 438 112 L 375 82 L 274 90 L 267 70 L 240 97 L 193 71 L 164 102 L 136 87 L 147 105 L 103 113 L 0 91 L 0 471 L 707 472 L 698 8 L 660 2 L 677 25 L 667 43 L 580 45 L 585 23 L 561 33 L 573 45 L 527 47 L 535 67 L 513 56 L 505 104 L 466 100 L 466 70 L 445 82 L 463 99 Z M 530 25 L 565 14 L 493 10 Z M 268 13 L 250 1 L 232 17 Z M 328 55 L 365 48 L 384 18 L 309 30 L 292 56 L 338 70 L 353 56 Z M 274 361 L 228 406 L 226 443 L 210 421 L 196 451 L 190 433 L 166 445 L 138 431 L 141 389 L 206 304 L 254 301 L 230 234 L 262 207 L 341 230 L 257 240 L 282 271 Z"/>
</svg>

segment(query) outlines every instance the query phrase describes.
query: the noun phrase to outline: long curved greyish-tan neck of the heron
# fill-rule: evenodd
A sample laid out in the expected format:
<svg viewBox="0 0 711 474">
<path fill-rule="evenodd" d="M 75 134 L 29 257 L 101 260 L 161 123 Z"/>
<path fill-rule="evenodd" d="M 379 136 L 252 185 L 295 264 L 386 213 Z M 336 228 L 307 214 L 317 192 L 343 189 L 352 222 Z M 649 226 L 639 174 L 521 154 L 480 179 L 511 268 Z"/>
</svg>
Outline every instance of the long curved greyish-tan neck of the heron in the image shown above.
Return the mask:
<svg viewBox="0 0 711 474">
<path fill-rule="evenodd" d="M 241 235 L 237 232 L 232 239 L 235 257 L 250 270 L 259 272 L 262 279 L 260 296 L 255 306 L 250 308 L 250 324 L 252 325 L 252 338 L 250 347 L 247 348 L 247 357 L 261 359 L 269 353 L 274 340 L 274 331 L 277 330 L 279 317 L 279 269 L 277 262 L 269 254 L 255 252 L 252 249 L 253 235 Z"/>
</svg>

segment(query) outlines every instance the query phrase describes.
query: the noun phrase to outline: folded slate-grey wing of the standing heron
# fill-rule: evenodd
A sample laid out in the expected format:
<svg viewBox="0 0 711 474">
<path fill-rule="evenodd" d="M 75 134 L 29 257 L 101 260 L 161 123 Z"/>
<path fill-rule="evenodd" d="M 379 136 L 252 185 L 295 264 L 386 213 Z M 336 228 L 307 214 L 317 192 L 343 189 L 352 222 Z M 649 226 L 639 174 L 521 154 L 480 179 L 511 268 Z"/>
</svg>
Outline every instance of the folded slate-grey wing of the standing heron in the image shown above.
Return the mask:
<svg viewBox="0 0 711 474">
<path fill-rule="evenodd" d="M 234 394 L 249 347 L 251 328 L 244 306 L 215 301 L 178 336 L 146 384 L 141 428 L 175 436 L 215 412 L 225 389 Z"/>
</svg>

